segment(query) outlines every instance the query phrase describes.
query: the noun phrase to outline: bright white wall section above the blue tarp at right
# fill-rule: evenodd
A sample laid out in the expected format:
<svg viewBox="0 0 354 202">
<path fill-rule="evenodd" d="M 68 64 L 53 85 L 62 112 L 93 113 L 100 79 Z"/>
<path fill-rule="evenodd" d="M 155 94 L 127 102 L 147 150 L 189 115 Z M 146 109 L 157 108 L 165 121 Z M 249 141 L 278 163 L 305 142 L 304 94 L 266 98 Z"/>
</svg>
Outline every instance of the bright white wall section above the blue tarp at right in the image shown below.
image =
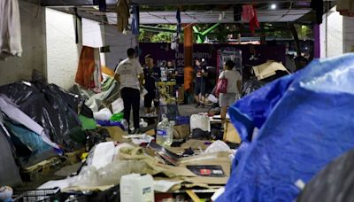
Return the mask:
<svg viewBox="0 0 354 202">
<path fill-rule="evenodd" d="M 343 17 L 335 9 L 323 15 L 323 23 L 319 26 L 320 58 L 340 56 L 343 53 Z"/>
</svg>

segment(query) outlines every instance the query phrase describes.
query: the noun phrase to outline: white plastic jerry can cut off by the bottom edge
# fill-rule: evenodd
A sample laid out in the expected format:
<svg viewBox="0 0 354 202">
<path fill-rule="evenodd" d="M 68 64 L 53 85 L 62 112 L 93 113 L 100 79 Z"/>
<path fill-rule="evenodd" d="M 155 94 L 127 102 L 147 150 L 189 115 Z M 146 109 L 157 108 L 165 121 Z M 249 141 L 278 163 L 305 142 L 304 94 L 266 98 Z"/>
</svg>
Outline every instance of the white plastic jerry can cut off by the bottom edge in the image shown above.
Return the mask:
<svg viewBox="0 0 354 202">
<path fill-rule="evenodd" d="M 121 202 L 154 202 L 154 180 L 151 175 L 129 174 L 120 178 Z"/>
</svg>

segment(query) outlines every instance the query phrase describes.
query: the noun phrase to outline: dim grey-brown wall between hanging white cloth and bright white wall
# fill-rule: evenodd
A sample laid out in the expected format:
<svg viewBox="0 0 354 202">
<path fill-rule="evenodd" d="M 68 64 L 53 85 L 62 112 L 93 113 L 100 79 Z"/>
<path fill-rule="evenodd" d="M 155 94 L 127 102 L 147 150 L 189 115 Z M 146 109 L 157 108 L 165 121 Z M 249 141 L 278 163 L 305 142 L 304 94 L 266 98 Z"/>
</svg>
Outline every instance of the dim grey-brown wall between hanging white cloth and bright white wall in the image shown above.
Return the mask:
<svg viewBox="0 0 354 202">
<path fill-rule="evenodd" d="M 19 1 L 22 56 L 0 61 L 0 85 L 30 80 L 34 69 L 46 74 L 45 12 L 42 7 Z"/>
</svg>

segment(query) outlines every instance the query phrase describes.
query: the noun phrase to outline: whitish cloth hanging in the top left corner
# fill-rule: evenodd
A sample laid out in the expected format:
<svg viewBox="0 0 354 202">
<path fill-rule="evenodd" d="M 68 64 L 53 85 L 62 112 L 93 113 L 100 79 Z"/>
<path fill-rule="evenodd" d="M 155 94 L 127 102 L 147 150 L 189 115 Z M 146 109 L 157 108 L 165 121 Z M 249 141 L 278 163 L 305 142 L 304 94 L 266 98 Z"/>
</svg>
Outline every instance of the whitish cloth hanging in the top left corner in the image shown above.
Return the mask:
<svg viewBox="0 0 354 202">
<path fill-rule="evenodd" d="M 18 0 L 0 1 L 0 59 L 22 54 Z"/>
</svg>

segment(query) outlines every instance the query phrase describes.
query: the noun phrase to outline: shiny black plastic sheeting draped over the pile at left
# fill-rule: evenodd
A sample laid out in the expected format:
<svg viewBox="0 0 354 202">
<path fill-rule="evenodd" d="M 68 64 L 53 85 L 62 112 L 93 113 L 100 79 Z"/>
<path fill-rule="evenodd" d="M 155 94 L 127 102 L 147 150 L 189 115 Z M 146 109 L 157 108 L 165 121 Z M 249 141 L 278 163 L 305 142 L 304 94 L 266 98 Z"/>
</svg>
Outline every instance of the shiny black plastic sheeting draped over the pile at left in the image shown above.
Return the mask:
<svg viewBox="0 0 354 202">
<path fill-rule="evenodd" d="M 65 151 L 83 146 L 73 141 L 86 138 L 78 112 L 88 117 L 92 117 L 92 112 L 82 105 L 81 97 L 45 82 L 15 82 L 1 86 L 0 93 L 19 105 L 19 109 L 40 124 L 50 134 L 50 139 Z"/>
</svg>

